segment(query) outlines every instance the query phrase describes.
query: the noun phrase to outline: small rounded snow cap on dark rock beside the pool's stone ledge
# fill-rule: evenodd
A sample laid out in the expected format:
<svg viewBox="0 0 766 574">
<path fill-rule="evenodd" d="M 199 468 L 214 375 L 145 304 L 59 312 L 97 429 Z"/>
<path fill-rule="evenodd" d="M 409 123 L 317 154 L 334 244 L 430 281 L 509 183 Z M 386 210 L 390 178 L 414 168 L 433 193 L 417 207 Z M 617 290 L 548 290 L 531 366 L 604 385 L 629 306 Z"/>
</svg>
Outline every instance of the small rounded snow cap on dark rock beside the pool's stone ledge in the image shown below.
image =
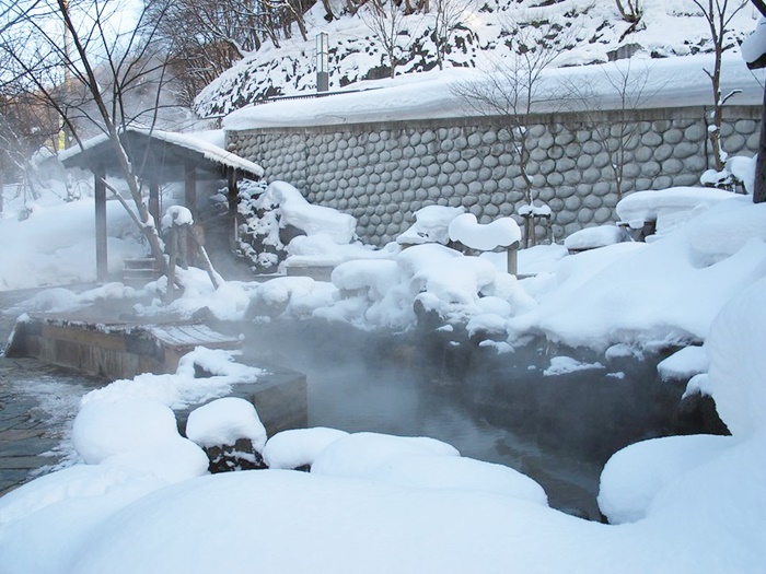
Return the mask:
<svg viewBox="0 0 766 574">
<path fill-rule="evenodd" d="M 266 444 L 266 429 L 255 407 L 237 397 L 216 399 L 193 410 L 186 421 L 186 436 L 202 447 L 249 438 L 258 453 Z"/>
</svg>

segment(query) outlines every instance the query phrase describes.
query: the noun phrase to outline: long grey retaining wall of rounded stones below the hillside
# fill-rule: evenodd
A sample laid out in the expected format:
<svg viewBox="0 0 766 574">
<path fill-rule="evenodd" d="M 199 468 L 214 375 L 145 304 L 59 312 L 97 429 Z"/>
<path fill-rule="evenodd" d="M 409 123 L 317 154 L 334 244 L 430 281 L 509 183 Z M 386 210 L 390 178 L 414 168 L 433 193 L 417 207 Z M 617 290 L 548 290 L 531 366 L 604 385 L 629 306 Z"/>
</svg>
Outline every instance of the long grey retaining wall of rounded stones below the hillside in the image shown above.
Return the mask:
<svg viewBox="0 0 766 574">
<path fill-rule="evenodd" d="M 698 185 L 712 166 L 703 107 L 530 116 L 533 198 L 553 210 L 538 239 L 616 221 L 612 167 L 624 150 L 623 192 Z M 761 108 L 728 107 L 729 154 L 757 150 Z M 607 128 L 607 129 L 605 129 Z M 430 204 L 463 206 L 480 223 L 525 203 L 518 155 L 499 118 L 455 118 L 229 131 L 228 148 L 282 179 L 311 203 L 350 213 L 365 242 L 382 245 Z M 607 134 L 608 133 L 608 134 Z"/>
</svg>

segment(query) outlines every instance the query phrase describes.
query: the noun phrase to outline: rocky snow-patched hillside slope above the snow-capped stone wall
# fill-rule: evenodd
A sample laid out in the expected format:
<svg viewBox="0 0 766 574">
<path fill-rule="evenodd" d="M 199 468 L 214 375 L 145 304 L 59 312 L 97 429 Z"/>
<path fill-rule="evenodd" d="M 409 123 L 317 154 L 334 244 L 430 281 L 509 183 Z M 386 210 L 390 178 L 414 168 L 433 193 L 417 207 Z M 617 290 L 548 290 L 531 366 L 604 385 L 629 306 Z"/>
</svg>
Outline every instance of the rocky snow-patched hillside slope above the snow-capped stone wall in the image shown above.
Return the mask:
<svg viewBox="0 0 766 574">
<path fill-rule="evenodd" d="M 295 32 L 281 46 L 267 44 L 208 85 L 197 97 L 201 117 L 225 115 L 253 101 L 316 90 L 315 36 L 329 35 L 329 89 L 361 80 L 390 75 L 387 56 L 379 38 L 361 17 L 345 11 L 339 0 L 337 20 L 327 23 L 317 2 L 306 13 L 309 40 Z M 509 30 L 521 25 L 532 48 L 555 50 L 553 66 L 601 63 L 632 55 L 669 58 L 712 50 L 708 23 L 692 0 L 642 0 L 639 24 L 620 17 L 613 0 L 474 0 L 464 11 L 462 24 L 451 36 L 445 63 L 450 67 L 488 69 L 507 58 Z M 757 12 L 751 5 L 732 20 L 726 49 L 739 43 L 755 26 Z M 396 75 L 437 68 L 434 14 L 405 16 L 398 36 Z"/>
</svg>

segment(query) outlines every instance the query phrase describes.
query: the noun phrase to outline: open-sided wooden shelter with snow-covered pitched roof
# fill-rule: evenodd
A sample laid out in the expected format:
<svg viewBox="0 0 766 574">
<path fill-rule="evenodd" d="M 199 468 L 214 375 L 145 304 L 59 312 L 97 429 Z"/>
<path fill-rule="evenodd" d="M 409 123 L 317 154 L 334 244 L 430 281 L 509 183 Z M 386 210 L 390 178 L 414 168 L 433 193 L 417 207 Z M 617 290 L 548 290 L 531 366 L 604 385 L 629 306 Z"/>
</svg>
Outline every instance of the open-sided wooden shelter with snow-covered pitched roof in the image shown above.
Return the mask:
<svg viewBox="0 0 766 574">
<path fill-rule="evenodd" d="M 149 189 L 149 212 L 160 224 L 160 186 L 167 181 L 184 183 L 184 203 L 195 220 L 197 184 L 201 180 L 225 180 L 232 238 L 235 232 L 237 180 L 242 177 L 260 179 L 263 168 L 220 145 L 206 140 L 205 133 L 176 133 L 144 128 L 127 128 L 120 136 L 123 149 L 142 185 Z M 95 241 L 96 276 L 98 281 L 107 277 L 106 253 L 106 186 L 107 175 L 121 177 L 116 147 L 107 136 L 97 136 L 81 148 L 59 153 L 65 167 L 89 169 L 94 175 L 95 188 Z"/>
</svg>

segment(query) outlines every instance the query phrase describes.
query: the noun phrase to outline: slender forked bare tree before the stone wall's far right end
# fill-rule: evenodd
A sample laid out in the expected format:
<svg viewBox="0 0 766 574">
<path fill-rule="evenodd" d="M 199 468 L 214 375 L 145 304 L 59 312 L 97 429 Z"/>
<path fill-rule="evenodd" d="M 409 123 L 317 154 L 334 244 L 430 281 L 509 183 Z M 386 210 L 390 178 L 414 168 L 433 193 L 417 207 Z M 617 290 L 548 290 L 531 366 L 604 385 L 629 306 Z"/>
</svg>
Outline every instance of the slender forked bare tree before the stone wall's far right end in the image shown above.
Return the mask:
<svg viewBox="0 0 766 574">
<path fill-rule="evenodd" d="M 747 5 L 747 0 L 692 0 L 700 10 L 710 30 L 710 38 L 712 39 L 712 49 L 715 62 L 711 70 L 705 70 L 705 73 L 710 79 L 712 87 L 712 113 L 710 114 L 710 122 L 708 124 L 708 134 L 710 145 L 712 147 L 713 160 L 716 162 L 716 171 L 722 172 L 726 167 L 727 154 L 721 145 L 721 125 L 723 122 L 723 106 L 741 90 L 733 90 L 723 95 L 721 93 L 721 67 L 723 61 L 723 50 L 727 43 L 734 45 L 734 40 L 729 37 L 731 30 L 729 25 L 736 13 Z"/>
</svg>

